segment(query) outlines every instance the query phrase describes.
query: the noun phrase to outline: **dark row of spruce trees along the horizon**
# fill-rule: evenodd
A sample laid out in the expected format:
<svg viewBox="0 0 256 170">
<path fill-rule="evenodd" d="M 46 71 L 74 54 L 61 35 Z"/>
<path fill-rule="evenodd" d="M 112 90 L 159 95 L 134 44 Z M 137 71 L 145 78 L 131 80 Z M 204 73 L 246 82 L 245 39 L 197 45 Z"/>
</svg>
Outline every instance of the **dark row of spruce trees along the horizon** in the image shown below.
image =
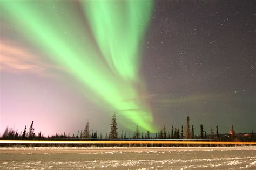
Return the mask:
<svg viewBox="0 0 256 170">
<path fill-rule="evenodd" d="M 181 129 L 174 127 L 172 125 L 171 131 L 167 131 L 165 125 L 157 132 L 157 133 L 150 133 L 147 131 L 146 133 L 140 132 L 138 126 L 136 126 L 136 130 L 134 131 L 133 136 L 127 136 L 126 131 L 123 132 L 121 130 L 120 136 L 118 135 L 118 128 L 117 128 L 117 118 L 116 114 L 112 115 L 111 124 L 110 124 L 110 133 L 105 134 L 103 136 L 102 133 L 98 134 L 98 131 L 92 130 L 90 133 L 90 123 L 89 121 L 85 124 L 84 130 L 80 130 L 77 134 L 53 134 L 51 136 L 45 137 L 40 131 L 38 134 L 35 134 L 35 129 L 33 128 L 34 122 L 31 122 L 30 128 L 27 129 L 26 126 L 24 130 L 18 132 L 14 128 L 7 128 L 5 129 L 2 139 L 8 140 L 92 140 L 92 139 L 191 139 L 191 140 L 217 140 L 217 141 L 255 141 L 254 132 L 253 130 L 251 133 L 242 133 L 237 134 L 235 133 L 234 126 L 231 125 L 230 133 L 227 134 L 219 134 L 218 125 L 215 126 L 215 131 L 213 130 L 212 126 L 210 132 L 207 132 L 204 129 L 203 124 L 200 124 L 200 135 L 195 134 L 194 124 L 190 123 L 190 117 L 187 116 L 186 118 L 186 125 L 185 127 L 182 125 Z"/>
</svg>

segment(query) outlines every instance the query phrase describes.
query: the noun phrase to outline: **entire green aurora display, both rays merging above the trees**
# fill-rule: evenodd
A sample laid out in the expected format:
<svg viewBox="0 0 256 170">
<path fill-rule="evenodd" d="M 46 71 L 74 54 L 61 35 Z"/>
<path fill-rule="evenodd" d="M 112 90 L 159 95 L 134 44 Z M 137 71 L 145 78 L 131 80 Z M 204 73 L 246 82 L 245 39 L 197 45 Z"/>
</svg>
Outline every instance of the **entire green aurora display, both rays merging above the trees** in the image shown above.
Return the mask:
<svg viewBox="0 0 256 170">
<path fill-rule="evenodd" d="M 123 126 L 155 132 L 138 74 L 152 8 L 133 0 L 2 1 L 1 18 L 106 102 Z"/>
</svg>

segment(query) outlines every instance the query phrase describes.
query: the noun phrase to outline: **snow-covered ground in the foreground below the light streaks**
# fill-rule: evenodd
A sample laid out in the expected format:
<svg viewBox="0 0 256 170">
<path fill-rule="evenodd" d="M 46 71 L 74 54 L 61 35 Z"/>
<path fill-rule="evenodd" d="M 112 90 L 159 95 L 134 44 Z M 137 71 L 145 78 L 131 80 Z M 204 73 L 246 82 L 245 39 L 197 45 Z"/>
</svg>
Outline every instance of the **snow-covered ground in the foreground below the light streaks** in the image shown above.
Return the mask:
<svg viewBox="0 0 256 170">
<path fill-rule="evenodd" d="M 0 148 L 0 169 L 256 169 L 256 147 Z"/>
</svg>

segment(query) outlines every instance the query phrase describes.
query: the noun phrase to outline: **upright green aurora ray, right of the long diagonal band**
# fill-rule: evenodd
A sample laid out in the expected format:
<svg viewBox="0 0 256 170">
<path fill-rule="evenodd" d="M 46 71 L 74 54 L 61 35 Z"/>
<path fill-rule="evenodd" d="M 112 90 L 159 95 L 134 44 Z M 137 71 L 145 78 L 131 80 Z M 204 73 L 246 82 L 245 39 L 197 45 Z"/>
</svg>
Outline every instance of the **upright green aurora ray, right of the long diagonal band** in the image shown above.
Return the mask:
<svg viewBox="0 0 256 170">
<path fill-rule="evenodd" d="M 151 1 L 84 1 L 84 13 L 103 56 L 123 79 L 137 80 L 139 44 L 151 17 Z"/>
</svg>

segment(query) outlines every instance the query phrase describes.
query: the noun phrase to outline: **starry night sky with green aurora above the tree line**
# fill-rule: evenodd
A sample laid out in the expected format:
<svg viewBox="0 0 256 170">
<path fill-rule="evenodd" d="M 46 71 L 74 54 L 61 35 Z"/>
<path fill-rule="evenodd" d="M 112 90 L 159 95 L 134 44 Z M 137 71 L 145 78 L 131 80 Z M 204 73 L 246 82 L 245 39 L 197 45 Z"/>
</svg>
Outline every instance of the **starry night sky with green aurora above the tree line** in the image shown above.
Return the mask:
<svg viewBox="0 0 256 170">
<path fill-rule="evenodd" d="M 0 133 L 256 130 L 255 1 L 0 5 Z"/>
</svg>

